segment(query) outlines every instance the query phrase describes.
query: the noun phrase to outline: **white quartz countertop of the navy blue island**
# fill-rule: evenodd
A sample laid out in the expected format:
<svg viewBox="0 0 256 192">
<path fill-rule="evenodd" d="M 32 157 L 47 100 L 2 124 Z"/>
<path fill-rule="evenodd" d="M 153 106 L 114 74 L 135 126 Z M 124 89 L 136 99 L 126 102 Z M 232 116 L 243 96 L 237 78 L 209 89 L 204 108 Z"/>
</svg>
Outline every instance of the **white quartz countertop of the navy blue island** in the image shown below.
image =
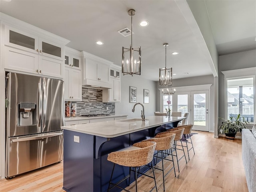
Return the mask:
<svg viewBox="0 0 256 192">
<path fill-rule="evenodd" d="M 185 118 L 186 117 L 149 116 L 146 117 L 145 121 L 142 121 L 139 117 L 136 119 L 122 119 L 116 121 L 62 126 L 62 129 L 105 138 L 112 138 L 160 126 L 166 123 L 172 123 Z"/>
</svg>

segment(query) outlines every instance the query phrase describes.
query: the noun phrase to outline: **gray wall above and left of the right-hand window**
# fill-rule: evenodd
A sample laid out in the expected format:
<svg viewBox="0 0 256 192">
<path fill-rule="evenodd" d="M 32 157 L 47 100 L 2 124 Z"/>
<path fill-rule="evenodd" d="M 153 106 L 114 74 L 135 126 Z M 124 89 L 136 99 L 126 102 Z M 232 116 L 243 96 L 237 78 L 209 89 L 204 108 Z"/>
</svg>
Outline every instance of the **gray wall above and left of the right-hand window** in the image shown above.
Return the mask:
<svg viewBox="0 0 256 192">
<path fill-rule="evenodd" d="M 221 71 L 256 67 L 256 50 L 244 51 L 219 57 L 219 117 L 225 117 L 224 75 Z M 219 120 L 219 125 L 222 121 Z"/>
</svg>

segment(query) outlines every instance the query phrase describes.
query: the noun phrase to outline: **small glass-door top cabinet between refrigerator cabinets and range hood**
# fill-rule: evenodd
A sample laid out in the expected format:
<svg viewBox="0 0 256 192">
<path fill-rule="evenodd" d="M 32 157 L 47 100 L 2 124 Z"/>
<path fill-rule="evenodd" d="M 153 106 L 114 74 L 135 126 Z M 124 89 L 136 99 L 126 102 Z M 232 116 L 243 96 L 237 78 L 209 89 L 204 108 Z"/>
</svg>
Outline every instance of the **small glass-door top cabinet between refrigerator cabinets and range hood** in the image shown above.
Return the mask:
<svg viewBox="0 0 256 192">
<path fill-rule="evenodd" d="M 81 52 L 65 46 L 65 67 L 82 69 Z"/>
</svg>

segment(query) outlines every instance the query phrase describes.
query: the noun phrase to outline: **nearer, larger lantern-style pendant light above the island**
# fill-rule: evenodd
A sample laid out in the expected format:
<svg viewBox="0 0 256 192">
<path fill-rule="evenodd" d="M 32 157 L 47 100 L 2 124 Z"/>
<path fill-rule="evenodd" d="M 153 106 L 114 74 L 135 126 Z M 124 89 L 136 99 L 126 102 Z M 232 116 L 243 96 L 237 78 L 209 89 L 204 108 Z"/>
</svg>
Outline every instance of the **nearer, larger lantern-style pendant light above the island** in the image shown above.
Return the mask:
<svg viewBox="0 0 256 192">
<path fill-rule="evenodd" d="M 132 48 L 132 16 L 136 14 L 134 9 L 128 10 L 128 15 L 131 16 L 131 44 L 130 49 L 122 47 L 122 73 L 123 75 L 140 75 L 141 50 Z"/>
</svg>

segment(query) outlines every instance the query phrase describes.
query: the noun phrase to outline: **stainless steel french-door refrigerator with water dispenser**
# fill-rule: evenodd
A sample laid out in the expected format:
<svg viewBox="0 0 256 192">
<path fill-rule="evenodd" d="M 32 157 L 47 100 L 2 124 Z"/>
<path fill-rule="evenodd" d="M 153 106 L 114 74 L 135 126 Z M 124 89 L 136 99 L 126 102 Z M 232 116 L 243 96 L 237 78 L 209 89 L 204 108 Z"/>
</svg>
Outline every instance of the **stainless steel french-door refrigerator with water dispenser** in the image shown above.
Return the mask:
<svg viewBox="0 0 256 192">
<path fill-rule="evenodd" d="M 63 159 L 64 82 L 8 73 L 6 178 Z"/>
</svg>

